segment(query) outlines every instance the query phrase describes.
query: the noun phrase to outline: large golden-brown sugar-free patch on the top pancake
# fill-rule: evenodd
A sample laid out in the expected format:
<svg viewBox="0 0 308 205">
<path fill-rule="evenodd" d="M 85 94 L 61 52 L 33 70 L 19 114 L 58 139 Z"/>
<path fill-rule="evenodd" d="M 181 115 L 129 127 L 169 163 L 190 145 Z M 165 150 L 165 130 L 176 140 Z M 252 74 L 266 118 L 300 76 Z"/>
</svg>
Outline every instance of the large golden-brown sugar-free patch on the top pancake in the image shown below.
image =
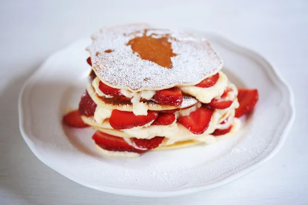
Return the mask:
<svg viewBox="0 0 308 205">
<path fill-rule="evenodd" d="M 137 52 L 141 59 L 150 60 L 165 68 L 172 68 L 171 57 L 177 54 L 173 52 L 171 43 L 168 42 L 168 36 L 160 38 L 146 36 L 146 30 L 144 30 L 143 36 L 134 37 L 127 45 L 131 46 L 133 52 Z"/>
</svg>

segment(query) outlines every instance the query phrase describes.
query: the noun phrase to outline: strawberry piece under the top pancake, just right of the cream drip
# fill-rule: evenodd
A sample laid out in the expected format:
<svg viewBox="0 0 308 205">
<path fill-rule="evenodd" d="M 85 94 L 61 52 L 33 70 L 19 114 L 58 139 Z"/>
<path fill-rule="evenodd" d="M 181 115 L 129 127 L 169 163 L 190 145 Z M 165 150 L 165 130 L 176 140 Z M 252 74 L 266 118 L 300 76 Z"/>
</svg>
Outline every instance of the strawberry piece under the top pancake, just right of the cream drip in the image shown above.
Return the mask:
<svg viewBox="0 0 308 205">
<path fill-rule="evenodd" d="M 179 106 L 183 102 L 183 95 L 180 88 L 173 87 L 156 91 L 153 99 L 162 105 Z"/>
</svg>

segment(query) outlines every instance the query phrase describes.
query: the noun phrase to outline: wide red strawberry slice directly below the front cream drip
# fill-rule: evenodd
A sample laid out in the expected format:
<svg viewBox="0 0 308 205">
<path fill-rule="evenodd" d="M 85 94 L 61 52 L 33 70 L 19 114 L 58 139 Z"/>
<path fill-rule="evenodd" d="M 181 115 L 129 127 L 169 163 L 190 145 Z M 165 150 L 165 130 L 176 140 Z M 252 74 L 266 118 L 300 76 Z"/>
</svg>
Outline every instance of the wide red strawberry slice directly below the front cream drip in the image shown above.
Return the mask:
<svg viewBox="0 0 308 205">
<path fill-rule="evenodd" d="M 156 119 L 157 111 L 148 110 L 147 115 L 134 115 L 133 112 L 112 110 L 109 123 L 115 130 L 131 129 L 133 127 L 144 126 Z"/>
</svg>

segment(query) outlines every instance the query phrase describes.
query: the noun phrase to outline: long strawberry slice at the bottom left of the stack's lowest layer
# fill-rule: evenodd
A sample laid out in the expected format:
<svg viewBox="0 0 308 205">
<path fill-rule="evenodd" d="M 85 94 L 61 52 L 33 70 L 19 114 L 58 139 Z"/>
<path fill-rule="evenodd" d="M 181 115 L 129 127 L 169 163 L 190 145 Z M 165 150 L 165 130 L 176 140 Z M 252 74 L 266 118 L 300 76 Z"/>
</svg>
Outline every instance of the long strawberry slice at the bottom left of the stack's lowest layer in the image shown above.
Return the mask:
<svg viewBox="0 0 308 205">
<path fill-rule="evenodd" d="M 95 141 L 95 144 L 103 148 L 104 150 L 109 151 L 127 151 L 127 152 L 137 152 L 143 153 L 146 150 L 138 150 L 133 148 L 122 137 L 117 137 L 109 135 L 104 132 L 96 131 L 92 136 L 92 139 Z"/>
</svg>

